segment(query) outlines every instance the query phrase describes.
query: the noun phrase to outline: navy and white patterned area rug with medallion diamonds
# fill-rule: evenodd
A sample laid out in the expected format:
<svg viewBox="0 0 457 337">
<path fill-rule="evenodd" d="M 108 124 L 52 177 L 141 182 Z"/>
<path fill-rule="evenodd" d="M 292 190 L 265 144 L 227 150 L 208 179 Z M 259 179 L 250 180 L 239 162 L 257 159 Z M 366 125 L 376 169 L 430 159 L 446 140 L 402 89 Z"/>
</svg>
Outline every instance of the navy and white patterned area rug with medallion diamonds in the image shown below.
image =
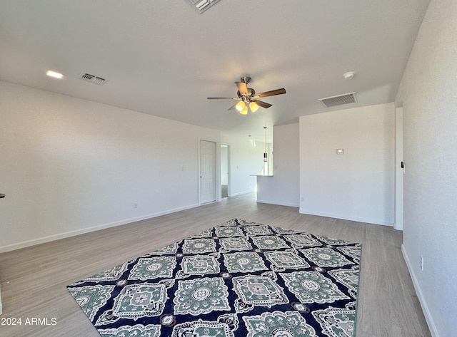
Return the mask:
<svg viewBox="0 0 457 337">
<path fill-rule="evenodd" d="M 67 288 L 103 337 L 353 337 L 360 259 L 232 219 Z"/>
</svg>

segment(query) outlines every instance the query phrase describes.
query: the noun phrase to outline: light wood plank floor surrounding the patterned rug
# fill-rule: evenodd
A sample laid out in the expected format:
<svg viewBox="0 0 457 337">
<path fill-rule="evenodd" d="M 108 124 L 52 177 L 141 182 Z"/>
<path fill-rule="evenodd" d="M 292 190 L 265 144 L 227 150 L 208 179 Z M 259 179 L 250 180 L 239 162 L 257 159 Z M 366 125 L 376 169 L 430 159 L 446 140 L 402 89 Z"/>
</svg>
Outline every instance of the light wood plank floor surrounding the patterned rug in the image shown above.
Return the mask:
<svg viewBox="0 0 457 337">
<path fill-rule="evenodd" d="M 430 337 L 401 254 L 401 232 L 391 227 L 298 214 L 294 207 L 257 204 L 255 195 L 229 197 L 183 212 L 0 254 L 0 336 L 99 336 L 66 285 L 176 242 L 228 219 L 271 224 L 361 242 L 357 337 Z M 26 318 L 56 325 L 25 326 Z"/>
</svg>

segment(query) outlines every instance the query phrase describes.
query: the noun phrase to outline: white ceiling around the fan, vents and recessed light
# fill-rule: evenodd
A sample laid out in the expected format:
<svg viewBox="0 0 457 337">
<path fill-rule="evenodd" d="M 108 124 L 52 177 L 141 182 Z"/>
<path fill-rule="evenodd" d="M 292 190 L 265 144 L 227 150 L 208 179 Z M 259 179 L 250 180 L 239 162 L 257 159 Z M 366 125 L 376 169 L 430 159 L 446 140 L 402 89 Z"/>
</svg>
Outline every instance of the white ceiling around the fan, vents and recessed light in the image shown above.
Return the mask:
<svg viewBox="0 0 457 337">
<path fill-rule="evenodd" d="M 221 0 L 199 14 L 188 0 L 0 0 L 0 79 L 263 140 L 263 126 L 392 102 L 428 2 Z M 246 116 L 206 100 L 236 97 L 246 75 L 287 93 Z M 353 91 L 352 105 L 318 101 Z"/>
</svg>

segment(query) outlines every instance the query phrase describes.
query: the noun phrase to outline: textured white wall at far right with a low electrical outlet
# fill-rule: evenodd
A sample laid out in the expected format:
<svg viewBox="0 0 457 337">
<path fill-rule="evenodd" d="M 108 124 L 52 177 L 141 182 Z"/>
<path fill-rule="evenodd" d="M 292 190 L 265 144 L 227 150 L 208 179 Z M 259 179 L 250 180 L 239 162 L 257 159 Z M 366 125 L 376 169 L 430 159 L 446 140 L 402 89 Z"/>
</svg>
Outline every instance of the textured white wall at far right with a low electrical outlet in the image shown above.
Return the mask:
<svg viewBox="0 0 457 337">
<path fill-rule="evenodd" d="M 431 0 L 401 84 L 403 254 L 435 337 L 457 331 L 456 18 L 457 1 Z"/>
</svg>

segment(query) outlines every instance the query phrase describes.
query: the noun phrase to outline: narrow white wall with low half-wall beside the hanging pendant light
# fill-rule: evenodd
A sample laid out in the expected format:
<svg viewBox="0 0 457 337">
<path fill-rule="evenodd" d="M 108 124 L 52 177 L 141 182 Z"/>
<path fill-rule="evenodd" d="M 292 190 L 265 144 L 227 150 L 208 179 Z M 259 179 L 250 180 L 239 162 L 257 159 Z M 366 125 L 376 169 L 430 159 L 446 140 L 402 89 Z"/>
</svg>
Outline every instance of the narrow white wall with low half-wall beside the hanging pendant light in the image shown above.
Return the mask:
<svg viewBox="0 0 457 337">
<path fill-rule="evenodd" d="M 273 128 L 273 177 L 257 177 L 257 202 L 299 207 L 298 123 Z"/>
</svg>

